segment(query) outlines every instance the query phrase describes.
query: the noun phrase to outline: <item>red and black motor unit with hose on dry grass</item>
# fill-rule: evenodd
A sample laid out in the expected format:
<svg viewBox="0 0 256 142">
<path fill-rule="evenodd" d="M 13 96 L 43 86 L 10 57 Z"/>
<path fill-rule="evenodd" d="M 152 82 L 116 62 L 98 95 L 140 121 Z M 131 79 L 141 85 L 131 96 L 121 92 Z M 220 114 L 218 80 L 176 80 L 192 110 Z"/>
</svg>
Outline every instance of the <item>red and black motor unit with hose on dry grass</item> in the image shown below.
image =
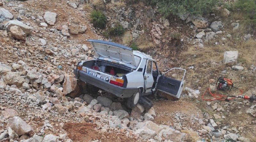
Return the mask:
<svg viewBox="0 0 256 142">
<path fill-rule="evenodd" d="M 232 79 L 219 77 L 216 82 L 217 90 L 231 90 L 234 86 Z"/>
</svg>

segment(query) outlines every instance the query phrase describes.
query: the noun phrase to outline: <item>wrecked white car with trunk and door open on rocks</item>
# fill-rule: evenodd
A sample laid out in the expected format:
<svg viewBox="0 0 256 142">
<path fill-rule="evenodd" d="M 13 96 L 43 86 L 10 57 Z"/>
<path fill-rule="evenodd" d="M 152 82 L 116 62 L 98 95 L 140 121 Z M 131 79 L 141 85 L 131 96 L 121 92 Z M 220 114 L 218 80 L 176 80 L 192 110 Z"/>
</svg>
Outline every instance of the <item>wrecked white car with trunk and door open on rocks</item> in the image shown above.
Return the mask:
<svg viewBox="0 0 256 142">
<path fill-rule="evenodd" d="M 156 62 L 147 54 L 133 51 L 132 48 L 102 40 L 87 40 L 97 53 L 98 58 L 79 62 L 74 69 L 76 78 L 86 82 L 89 93 L 97 93 L 99 89 L 110 92 L 117 97 L 127 98 L 129 108 L 140 102 L 150 108 L 152 103 L 147 95 L 162 91 L 165 94 L 180 98 L 183 79 L 175 80 L 161 74 Z"/>
</svg>

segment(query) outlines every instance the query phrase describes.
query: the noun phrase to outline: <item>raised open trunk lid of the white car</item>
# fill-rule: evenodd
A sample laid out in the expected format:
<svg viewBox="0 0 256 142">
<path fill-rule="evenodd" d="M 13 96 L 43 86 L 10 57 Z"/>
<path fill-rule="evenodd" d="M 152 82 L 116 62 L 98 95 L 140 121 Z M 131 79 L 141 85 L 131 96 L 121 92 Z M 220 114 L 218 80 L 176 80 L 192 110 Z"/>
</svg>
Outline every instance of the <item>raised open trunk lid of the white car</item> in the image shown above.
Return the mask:
<svg viewBox="0 0 256 142">
<path fill-rule="evenodd" d="M 99 57 L 114 59 L 136 67 L 132 48 L 114 42 L 89 39 Z"/>
</svg>

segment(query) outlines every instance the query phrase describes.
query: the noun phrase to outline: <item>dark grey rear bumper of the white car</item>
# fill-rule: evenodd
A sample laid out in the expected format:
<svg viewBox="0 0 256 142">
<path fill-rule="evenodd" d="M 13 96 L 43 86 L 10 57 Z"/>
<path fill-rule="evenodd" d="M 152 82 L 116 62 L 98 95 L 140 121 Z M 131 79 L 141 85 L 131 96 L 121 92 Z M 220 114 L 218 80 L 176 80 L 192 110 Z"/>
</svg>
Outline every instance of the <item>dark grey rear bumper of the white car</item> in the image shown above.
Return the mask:
<svg viewBox="0 0 256 142">
<path fill-rule="evenodd" d="M 78 69 L 74 69 L 74 73 L 77 79 L 80 79 L 83 82 L 92 84 L 93 86 L 110 92 L 117 97 L 128 98 L 131 97 L 138 90 L 138 88 L 123 88 L 114 84 L 110 84 L 109 82 L 103 81 Z"/>
</svg>

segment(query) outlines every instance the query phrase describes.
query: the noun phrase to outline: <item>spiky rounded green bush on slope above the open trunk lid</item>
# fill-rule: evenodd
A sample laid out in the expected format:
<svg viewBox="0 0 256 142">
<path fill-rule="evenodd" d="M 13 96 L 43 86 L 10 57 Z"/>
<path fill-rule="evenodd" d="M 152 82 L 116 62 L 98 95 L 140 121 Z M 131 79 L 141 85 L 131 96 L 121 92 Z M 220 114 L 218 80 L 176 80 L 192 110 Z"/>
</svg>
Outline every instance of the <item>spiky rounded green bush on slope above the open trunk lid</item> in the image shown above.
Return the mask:
<svg viewBox="0 0 256 142">
<path fill-rule="evenodd" d="M 91 22 L 95 28 L 103 29 L 106 27 L 107 17 L 102 11 L 93 10 L 91 12 Z"/>
</svg>

